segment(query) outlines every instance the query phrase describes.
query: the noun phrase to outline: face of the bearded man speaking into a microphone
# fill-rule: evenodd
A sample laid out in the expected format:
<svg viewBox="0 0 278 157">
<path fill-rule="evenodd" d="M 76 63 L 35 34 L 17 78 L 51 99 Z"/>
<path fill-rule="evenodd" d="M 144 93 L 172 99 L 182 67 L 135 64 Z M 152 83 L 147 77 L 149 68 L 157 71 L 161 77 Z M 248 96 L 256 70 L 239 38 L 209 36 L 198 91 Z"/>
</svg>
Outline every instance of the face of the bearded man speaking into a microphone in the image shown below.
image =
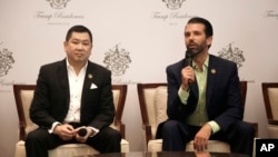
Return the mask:
<svg viewBox="0 0 278 157">
<path fill-rule="evenodd" d="M 185 29 L 185 42 L 187 49 L 195 53 L 201 53 L 208 50 L 208 45 L 211 45 L 212 37 L 207 38 L 205 26 L 201 23 L 189 23 Z"/>
</svg>

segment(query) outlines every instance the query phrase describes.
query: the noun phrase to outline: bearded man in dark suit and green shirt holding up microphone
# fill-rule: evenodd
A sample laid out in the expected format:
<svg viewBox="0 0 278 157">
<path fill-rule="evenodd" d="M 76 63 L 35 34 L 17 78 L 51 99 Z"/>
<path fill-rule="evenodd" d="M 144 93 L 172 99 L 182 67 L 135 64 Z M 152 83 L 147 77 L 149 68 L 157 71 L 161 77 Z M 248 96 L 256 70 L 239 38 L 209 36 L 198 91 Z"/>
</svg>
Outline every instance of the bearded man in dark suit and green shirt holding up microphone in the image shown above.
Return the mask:
<svg viewBox="0 0 278 157">
<path fill-rule="evenodd" d="M 232 153 L 252 154 L 255 129 L 242 121 L 237 65 L 209 55 L 212 35 L 208 20 L 190 19 L 185 43 L 192 63 L 182 59 L 167 67 L 169 119 L 157 133 L 163 151 L 183 151 L 192 139 L 195 149 L 203 151 L 209 139 L 218 139 L 229 143 Z"/>
</svg>

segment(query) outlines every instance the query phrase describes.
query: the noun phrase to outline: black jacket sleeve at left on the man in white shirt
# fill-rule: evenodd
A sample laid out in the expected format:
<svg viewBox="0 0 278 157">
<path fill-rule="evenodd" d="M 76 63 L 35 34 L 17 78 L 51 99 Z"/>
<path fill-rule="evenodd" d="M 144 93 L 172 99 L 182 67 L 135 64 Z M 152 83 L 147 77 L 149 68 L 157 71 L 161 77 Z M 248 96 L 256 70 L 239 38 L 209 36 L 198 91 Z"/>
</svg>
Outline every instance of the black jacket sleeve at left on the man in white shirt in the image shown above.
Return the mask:
<svg viewBox="0 0 278 157">
<path fill-rule="evenodd" d="M 59 104 L 66 104 L 62 102 L 60 98 L 61 95 L 58 95 L 57 92 L 64 92 L 61 89 L 57 88 L 60 86 L 56 86 L 56 81 L 51 81 L 49 78 L 49 71 L 51 71 L 51 69 L 46 68 L 46 67 L 41 67 L 40 71 L 39 71 L 39 77 L 37 80 L 37 86 L 36 86 L 36 90 L 34 90 L 34 95 L 33 95 L 33 100 L 31 102 L 31 107 L 30 107 L 30 118 L 32 119 L 32 121 L 37 125 L 39 125 L 40 127 L 46 127 L 48 129 L 51 128 L 52 124 L 54 121 L 60 121 L 64 118 L 66 112 L 64 110 L 67 110 L 66 106 L 57 106 L 52 102 L 52 99 L 50 99 L 51 95 L 56 96 L 53 99 L 56 99 L 57 101 L 59 101 Z M 51 75 L 54 78 L 54 75 Z M 52 84 L 49 84 L 49 82 Z M 53 89 L 57 92 L 52 92 L 52 90 L 50 89 L 50 85 L 52 85 L 53 87 L 56 87 L 56 89 Z M 62 108 L 62 109 L 61 109 Z"/>
</svg>

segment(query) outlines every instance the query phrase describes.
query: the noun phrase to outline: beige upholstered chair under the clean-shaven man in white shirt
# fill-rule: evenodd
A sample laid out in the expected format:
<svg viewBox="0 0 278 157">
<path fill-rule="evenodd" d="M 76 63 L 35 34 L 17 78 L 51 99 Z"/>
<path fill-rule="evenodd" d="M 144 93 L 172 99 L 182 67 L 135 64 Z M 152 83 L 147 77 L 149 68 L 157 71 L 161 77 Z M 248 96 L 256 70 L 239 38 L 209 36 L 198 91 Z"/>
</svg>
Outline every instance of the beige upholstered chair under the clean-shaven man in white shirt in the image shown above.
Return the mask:
<svg viewBox="0 0 278 157">
<path fill-rule="evenodd" d="M 34 88 L 36 85 L 13 85 L 13 92 L 19 116 L 19 141 L 16 144 L 14 157 L 26 157 L 23 139 L 29 131 L 38 127 L 29 119 L 29 107 L 33 97 Z M 117 111 L 115 121 L 110 127 L 120 130 L 122 136 L 121 151 L 128 153 L 129 143 L 125 139 L 125 124 L 121 121 L 127 96 L 127 85 L 112 85 L 112 92 Z M 99 154 L 99 151 L 86 144 L 68 144 L 49 150 L 49 157 L 70 157 L 92 154 Z"/>
</svg>

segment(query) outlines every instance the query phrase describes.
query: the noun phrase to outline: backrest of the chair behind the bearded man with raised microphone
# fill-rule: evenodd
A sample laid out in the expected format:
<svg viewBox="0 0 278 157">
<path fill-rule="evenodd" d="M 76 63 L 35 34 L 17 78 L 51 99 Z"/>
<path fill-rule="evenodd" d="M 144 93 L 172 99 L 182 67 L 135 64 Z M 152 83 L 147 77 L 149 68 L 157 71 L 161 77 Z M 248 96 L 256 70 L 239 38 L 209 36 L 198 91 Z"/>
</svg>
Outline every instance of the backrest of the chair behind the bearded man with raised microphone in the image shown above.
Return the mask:
<svg viewBox="0 0 278 157">
<path fill-rule="evenodd" d="M 167 116 L 167 84 L 138 84 L 139 105 L 141 110 L 142 125 L 146 131 L 146 143 L 156 138 L 157 127 L 165 121 Z M 242 105 L 246 104 L 247 81 L 240 81 Z"/>
</svg>

